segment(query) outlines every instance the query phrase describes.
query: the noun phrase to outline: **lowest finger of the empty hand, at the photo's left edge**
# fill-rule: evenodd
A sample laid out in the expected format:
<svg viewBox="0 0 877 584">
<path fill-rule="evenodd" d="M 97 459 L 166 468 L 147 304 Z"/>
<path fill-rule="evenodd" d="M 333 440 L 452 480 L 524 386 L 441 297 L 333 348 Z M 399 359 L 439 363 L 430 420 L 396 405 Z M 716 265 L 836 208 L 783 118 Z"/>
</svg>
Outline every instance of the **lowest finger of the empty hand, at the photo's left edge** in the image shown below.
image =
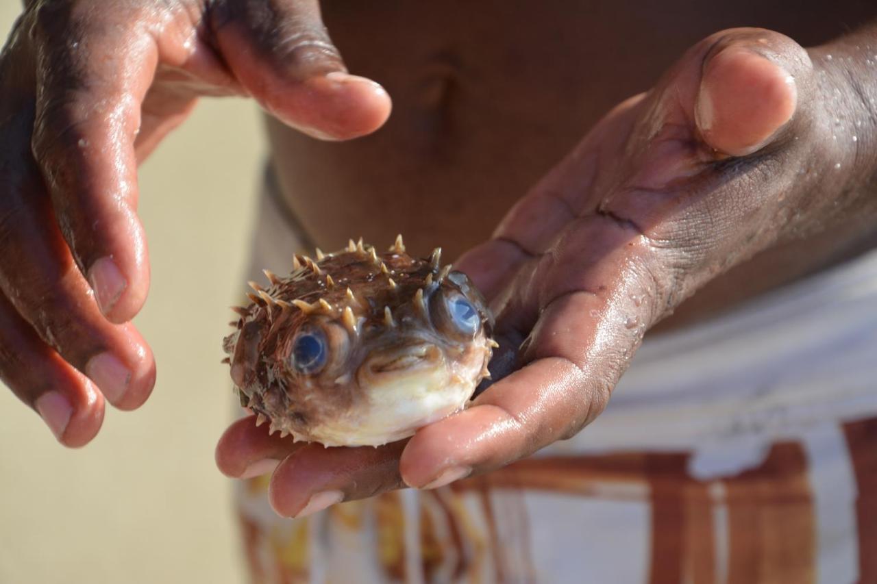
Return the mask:
<svg viewBox="0 0 877 584">
<path fill-rule="evenodd" d="M 103 423 L 103 397 L 46 345 L 0 296 L 0 380 L 32 407 L 63 445 L 89 443 Z"/>
</svg>

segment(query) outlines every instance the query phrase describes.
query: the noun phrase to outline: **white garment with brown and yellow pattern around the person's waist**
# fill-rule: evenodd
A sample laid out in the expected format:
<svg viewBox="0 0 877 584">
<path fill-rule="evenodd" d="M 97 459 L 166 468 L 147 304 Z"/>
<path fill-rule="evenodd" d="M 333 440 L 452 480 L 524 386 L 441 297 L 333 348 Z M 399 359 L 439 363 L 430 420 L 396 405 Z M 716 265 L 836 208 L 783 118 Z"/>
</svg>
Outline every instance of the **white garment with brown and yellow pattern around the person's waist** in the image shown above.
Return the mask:
<svg viewBox="0 0 877 584">
<path fill-rule="evenodd" d="M 252 276 L 306 251 L 270 191 Z M 602 417 L 495 473 L 300 520 L 266 489 L 259 583 L 877 582 L 877 252 L 646 338 Z"/>
</svg>

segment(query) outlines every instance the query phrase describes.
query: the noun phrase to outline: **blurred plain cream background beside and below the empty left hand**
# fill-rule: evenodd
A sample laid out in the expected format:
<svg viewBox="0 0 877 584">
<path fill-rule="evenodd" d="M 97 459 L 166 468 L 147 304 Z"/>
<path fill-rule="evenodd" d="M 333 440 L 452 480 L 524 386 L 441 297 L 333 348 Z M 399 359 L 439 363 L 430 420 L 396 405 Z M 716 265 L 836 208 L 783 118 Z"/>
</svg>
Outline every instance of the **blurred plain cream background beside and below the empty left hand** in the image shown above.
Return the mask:
<svg viewBox="0 0 877 584">
<path fill-rule="evenodd" d="M 0 30 L 18 5 L 0 3 Z M 220 342 L 243 290 L 260 130 L 251 103 L 204 102 L 141 169 L 153 279 L 135 322 L 159 372 L 143 408 L 108 409 L 69 451 L 0 388 L 0 582 L 243 580 L 213 447 L 234 402 Z"/>
</svg>

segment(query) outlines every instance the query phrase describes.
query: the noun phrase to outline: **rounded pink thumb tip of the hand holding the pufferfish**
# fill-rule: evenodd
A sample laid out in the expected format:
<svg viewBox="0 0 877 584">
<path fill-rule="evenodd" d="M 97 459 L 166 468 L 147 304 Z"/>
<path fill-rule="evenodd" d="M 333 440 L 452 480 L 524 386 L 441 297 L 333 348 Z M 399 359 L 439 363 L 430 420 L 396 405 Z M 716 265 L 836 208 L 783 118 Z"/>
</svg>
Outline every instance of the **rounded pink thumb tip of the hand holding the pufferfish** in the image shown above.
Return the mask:
<svg viewBox="0 0 877 584">
<path fill-rule="evenodd" d="M 812 64 L 795 41 L 772 31 L 731 29 L 707 39 L 695 124 L 719 153 L 745 156 L 771 143 L 795 117 Z"/>
</svg>

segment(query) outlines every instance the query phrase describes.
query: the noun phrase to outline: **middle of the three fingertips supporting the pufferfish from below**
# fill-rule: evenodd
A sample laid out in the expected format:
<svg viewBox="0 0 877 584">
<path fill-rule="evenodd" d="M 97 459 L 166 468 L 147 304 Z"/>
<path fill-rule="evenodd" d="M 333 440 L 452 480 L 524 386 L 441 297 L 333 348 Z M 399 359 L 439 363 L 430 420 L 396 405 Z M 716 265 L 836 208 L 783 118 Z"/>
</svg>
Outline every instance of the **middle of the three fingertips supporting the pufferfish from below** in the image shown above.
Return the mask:
<svg viewBox="0 0 877 584">
<path fill-rule="evenodd" d="M 306 445 L 277 466 L 268 499 L 278 515 L 301 517 L 402 487 L 399 455 L 404 446 L 405 441 L 377 448 Z"/>
</svg>

